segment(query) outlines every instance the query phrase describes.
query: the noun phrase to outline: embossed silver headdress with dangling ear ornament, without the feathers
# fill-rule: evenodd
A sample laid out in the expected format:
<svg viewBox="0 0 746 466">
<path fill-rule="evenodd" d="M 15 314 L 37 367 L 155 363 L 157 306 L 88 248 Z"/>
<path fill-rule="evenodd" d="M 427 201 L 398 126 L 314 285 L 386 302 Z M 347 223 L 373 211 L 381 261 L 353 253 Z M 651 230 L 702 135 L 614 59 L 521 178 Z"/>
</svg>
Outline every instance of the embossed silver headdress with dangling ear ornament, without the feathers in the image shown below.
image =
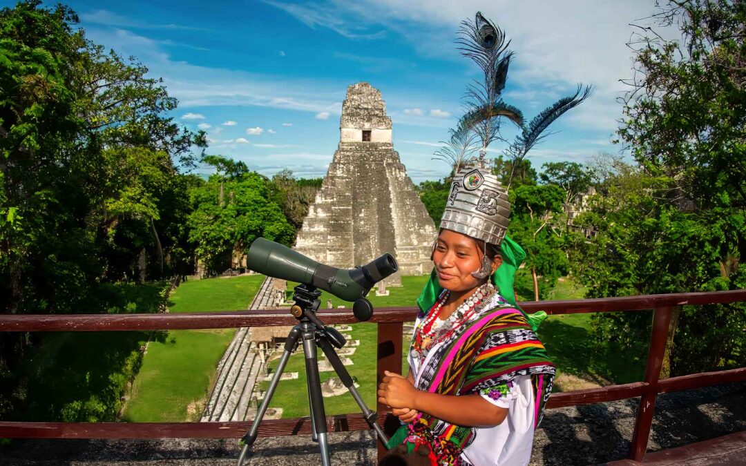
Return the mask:
<svg viewBox="0 0 746 466">
<path fill-rule="evenodd" d="M 510 224 L 508 192 L 483 164 L 466 166 L 454 175 L 440 227 L 500 245 Z M 486 245 L 485 245 L 486 252 Z M 485 254 L 482 267 L 472 275 L 492 274 L 492 260 Z"/>
</svg>

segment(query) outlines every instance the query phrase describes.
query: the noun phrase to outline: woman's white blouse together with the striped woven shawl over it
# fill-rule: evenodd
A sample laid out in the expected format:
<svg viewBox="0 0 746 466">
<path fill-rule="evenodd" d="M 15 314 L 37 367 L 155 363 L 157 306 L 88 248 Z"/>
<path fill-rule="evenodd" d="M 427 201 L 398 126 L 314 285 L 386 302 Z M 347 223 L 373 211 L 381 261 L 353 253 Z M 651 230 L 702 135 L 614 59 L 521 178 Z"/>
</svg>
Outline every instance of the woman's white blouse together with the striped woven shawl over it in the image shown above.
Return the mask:
<svg viewBox="0 0 746 466">
<path fill-rule="evenodd" d="M 454 426 L 429 415 L 403 426 L 407 442 L 429 444 L 438 465 L 526 465 L 533 431 L 551 394 L 554 365 L 524 315 L 495 293 L 459 327 L 416 348 L 420 313 L 410 345 L 410 371 L 419 390 L 479 394 L 508 409 L 490 428 Z M 432 309 L 431 309 L 432 310 Z"/>
</svg>

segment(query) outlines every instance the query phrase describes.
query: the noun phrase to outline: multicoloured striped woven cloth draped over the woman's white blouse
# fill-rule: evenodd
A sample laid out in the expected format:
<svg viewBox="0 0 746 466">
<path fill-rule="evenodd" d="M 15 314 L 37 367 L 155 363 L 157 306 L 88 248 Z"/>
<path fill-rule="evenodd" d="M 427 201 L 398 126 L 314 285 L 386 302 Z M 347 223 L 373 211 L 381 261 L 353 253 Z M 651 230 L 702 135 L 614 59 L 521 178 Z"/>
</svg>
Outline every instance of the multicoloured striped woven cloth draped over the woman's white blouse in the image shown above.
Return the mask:
<svg viewBox="0 0 746 466">
<path fill-rule="evenodd" d="M 554 372 L 554 364 L 526 317 L 495 295 L 483 309 L 427 352 L 416 388 L 445 395 L 481 394 L 496 399 L 510 391 L 517 377 L 530 376 L 536 400 L 536 426 L 551 394 Z M 430 447 L 432 464 L 459 465 L 461 452 L 471 444 L 478 430 L 422 414 L 396 432 L 389 448 L 404 443 L 411 452 L 425 444 Z"/>
</svg>

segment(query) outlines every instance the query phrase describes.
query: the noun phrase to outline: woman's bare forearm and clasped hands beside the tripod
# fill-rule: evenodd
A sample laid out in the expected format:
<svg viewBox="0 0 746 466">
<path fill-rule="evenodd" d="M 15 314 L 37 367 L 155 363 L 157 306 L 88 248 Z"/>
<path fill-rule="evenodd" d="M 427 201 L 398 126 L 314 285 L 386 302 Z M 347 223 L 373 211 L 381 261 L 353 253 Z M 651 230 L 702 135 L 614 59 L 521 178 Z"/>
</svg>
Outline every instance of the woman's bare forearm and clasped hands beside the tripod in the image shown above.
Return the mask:
<svg viewBox="0 0 746 466">
<path fill-rule="evenodd" d="M 495 406 L 479 395 L 442 395 L 421 391 L 399 374 L 386 372 L 379 385 L 378 401 L 392 408 L 412 408 L 457 426 L 492 427 L 501 424 L 507 408 Z"/>
</svg>

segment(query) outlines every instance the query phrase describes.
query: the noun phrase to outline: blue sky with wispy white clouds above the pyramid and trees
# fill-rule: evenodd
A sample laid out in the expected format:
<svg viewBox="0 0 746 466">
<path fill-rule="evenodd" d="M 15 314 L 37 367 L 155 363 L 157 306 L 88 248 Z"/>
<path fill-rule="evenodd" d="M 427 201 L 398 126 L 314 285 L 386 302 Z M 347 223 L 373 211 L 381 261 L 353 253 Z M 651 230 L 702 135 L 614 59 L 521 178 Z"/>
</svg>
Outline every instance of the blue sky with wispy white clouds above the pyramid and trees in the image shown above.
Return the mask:
<svg viewBox="0 0 746 466">
<path fill-rule="evenodd" d="M 630 23 L 645 24 L 640 19 L 654 12 L 653 0 L 66 3 L 90 39 L 163 78 L 180 102 L 172 116 L 206 129 L 208 152 L 263 174 L 323 176 L 339 141 L 345 89 L 368 81 L 383 93 L 394 148 L 415 183 L 448 173 L 433 151 L 479 75 L 454 46 L 461 20 L 481 10 L 513 40 L 504 97 L 527 118 L 578 82 L 595 86 L 530 153 L 539 167 L 619 151 L 609 139 L 621 116 L 618 80 L 631 75 L 625 42 Z M 497 155 L 502 146 L 491 148 Z"/>
</svg>

